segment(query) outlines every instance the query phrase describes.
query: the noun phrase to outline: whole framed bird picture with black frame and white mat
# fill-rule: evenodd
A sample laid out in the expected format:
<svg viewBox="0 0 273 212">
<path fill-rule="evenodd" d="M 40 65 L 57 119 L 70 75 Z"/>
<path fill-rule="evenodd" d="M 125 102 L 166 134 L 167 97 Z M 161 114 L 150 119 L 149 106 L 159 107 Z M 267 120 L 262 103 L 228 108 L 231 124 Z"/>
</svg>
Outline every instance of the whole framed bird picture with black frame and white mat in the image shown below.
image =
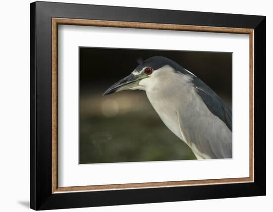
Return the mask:
<svg viewBox="0 0 273 212">
<path fill-rule="evenodd" d="M 266 17 L 30 4 L 30 207 L 266 195 Z"/>
</svg>

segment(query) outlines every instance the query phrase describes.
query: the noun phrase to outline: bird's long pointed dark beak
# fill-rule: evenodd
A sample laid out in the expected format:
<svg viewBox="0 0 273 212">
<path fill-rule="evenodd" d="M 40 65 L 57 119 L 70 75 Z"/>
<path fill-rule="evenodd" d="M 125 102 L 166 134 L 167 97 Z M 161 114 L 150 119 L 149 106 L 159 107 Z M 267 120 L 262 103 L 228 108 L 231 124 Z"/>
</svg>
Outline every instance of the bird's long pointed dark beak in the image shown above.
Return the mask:
<svg viewBox="0 0 273 212">
<path fill-rule="evenodd" d="M 120 81 L 116 82 L 114 85 L 112 85 L 110 88 L 108 88 L 103 96 L 108 95 L 108 94 L 112 94 L 115 92 L 119 92 L 119 91 L 123 91 L 123 90 L 129 90 L 131 88 L 134 88 L 138 85 L 138 81 L 141 78 L 134 75 L 134 74 L 130 74 L 127 77 L 124 77 L 123 79 L 121 79 Z"/>
</svg>

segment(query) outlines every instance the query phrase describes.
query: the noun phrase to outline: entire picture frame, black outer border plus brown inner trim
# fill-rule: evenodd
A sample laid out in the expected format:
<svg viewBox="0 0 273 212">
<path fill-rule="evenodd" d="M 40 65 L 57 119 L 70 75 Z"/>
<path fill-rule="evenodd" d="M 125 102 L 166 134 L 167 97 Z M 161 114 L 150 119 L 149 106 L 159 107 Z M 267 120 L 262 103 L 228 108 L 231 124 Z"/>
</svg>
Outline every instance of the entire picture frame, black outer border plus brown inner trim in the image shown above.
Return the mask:
<svg viewBox="0 0 273 212">
<path fill-rule="evenodd" d="M 35 98 L 36 101 L 31 102 L 31 133 L 32 133 L 32 140 L 31 140 L 31 208 L 38 210 L 38 209 L 55 209 L 55 208 L 71 208 L 71 207 L 86 207 L 86 206 L 98 206 L 98 205 L 114 205 L 114 204 L 132 204 L 132 203 L 144 203 L 146 201 L 149 202 L 162 202 L 162 201 L 177 201 L 177 200 L 186 200 L 186 199 L 206 199 L 206 198 L 221 198 L 221 197 L 232 197 L 232 194 L 225 194 L 225 196 L 221 196 L 218 194 L 216 195 L 211 195 L 208 197 L 186 197 L 183 195 L 182 198 L 177 199 L 179 197 L 173 197 L 172 199 L 168 199 L 166 196 L 166 192 L 170 191 L 170 187 L 174 189 L 173 191 L 179 191 L 182 192 L 183 188 L 184 191 L 187 189 L 190 189 L 193 185 L 196 187 L 200 187 L 204 189 L 205 187 L 208 188 L 208 186 L 213 186 L 214 189 L 218 186 L 218 189 L 220 187 L 222 188 L 227 188 L 229 186 L 230 189 L 233 187 L 237 187 L 239 189 L 239 186 L 246 188 L 248 187 L 248 190 L 251 189 L 250 185 L 256 185 L 259 182 L 258 188 L 254 189 L 252 188 L 251 193 L 240 193 L 240 194 L 234 194 L 233 196 L 251 196 L 251 195 L 265 195 L 265 167 L 262 168 L 262 172 L 258 172 L 257 170 L 261 170 L 259 166 L 263 166 L 262 163 L 265 163 L 265 156 L 261 156 L 261 152 L 265 155 L 265 130 L 261 131 L 261 129 L 255 128 L 255 123 L 260 122 L 260 124 L 265 124 L 263 118 L 265 114 L 261 111 L 257 111 L 257 107 L 263 107 L 260 105 L 260 102 L 258 104 L 255 104 L 255 99 L 260 99 L 260 101 L 265 101 L 265 98 L 258 97 L 257 95 L 259 94 L 262 95 L 262 90 L 264 85 L 261 86 L 261 82 L 265 82 L 265 79 L 261 79 L 259 81 L 259 77 L 257 76 L 256 72 L 254 70 L 255 67 L 258 64 L 262 64 L 261 69 L 259 69 L 259 72 L 264 72 L 265 73 L 265 64 L 263 64 L 264 58 L 261 58 L 258 53 L 265 54 L 265 17 L 262 16 L 245 16 L 245 15 L 239 15 L 241 19 L 245 21 L 245 25 L 241 26 L 240 24 L 236 24 L 236 21 L 234 23 L 233 19 L 235 20 L 238 18 L 238 15 L 230 15 L 230 14 L 212 14 L 212 13 L 198 13 L 198 12 L 193 12 L 196 15 L 196 19 L 199 19 L 197 17 L 205 17 L 207 15 L 211 16 L 212 18 L 215 18 L 215 16 L 219 17 L 224 17 L 226 16 L 226 21 L 223 20 L 223 23 L 210 23 L 205 25 L 201 19 L 195 21 L 195 25 L 191 24 L 172 24 L 175 21 L 180 21 L 180 19 L 176 20 L 166 20 L 167 23 L 164 23 L 161 21 L 161 23 L 157 23 L 157 21 L 151 21 L 147 20 L 146 22 L 141 22 L 137 20 L 136 16 L 132 15 L 132 20 L 111 20 L 109 17 L 104 17 L 97 19 L 96 17 L 90 17 L 84 18 L 84 17 L 79 17 L 79 18 L 67 18 L 69 17 L 68 12 L 65 12 L 65 15 L 56 15 L 56 14 L 51 14 L 50 13 L 50 8 L 51 7 L 58 7 L 58 6 L 64 6 L 65 8 L 72 8 L 72 7 L 77 7 L 78 8 L 78 14 L 80 14 L 80 11 L 83 10 L 95 10 L 99 7 L 99 11 L 103 11 L 106 9 L 105 6 L 95 6 L 95 5 L 85 5 L 88 8 L 83 8 L 82 4 L 64 4 L 64 3 L 49 3 L 49 2 L 34 2 L 31 4 L 31 27 L 32 27 L 32 38 L 31 38 L 31 96 Z M 48 12 L 48 16 L 45 17 L 39 17 L 40 13 L 39 11 L 41 8 L 46 8 L 46 12 Z M 48 10 L 47 10 L 48 9 Z M 125 13 L 127 10 L 136 10 L 135 13 L 141 13 L 143 11 L 141 10 L 146 10 L 146 9 L 139 9 L 139 8 L 126 8 L 126 7 L 107 7 L 109 11 L 114 11 L 114 10 L 122 10 L 123 13 Z M 69 9 L 68 9 L 69 10 Z M 86 11 L 87 11 L 86 10 Z M 149 9 L 156 13 L 154 15 L 155 18 L 159 17 L 159 14 L 162 14 L 164 12 L 167 12 L 168 14 L 177 12 L 179 13 L 180 16 L 185 16 L 188 17 L 189 13 L 184 12 L 184 11 L 168 11 L 168 10 L 155 10 L 155 9 Z M 127 11 L 130 12 L 130 11 Z M 192 14 L 193 15 L 193 14 Z M 63 17 L 61 17 L 63 16 Z M 71 17 L 75 17 L 75 15 L 71 14 Z M 190 15 L 191 16 L 191 15 Z M 236 17 L 235 17 L 236 16 Z M 66 17 L 66 18 L 64 18 Z M 126 17 L 126 16 L 124 16 Z M 37 59 L 37 54 L 39 54 L 39 50 L 44 47 L 39 47 L 39 43 L 37 40 L 39 40 L 39 34 L 36 32 L 37 31 L 37 21 L 40 19 L 41 20 L 46 20 L 48 24 L 51 23 L 51 25 L 47 26 L 45 28 L 45 32 L 47 33 L 47 40 L 49 39 L 49 36 L 51 38 L 51 50 L 48 48 L 47 49 L 47 54 L 51 53 L 51 66 L 48 66 L 48 70 L 41 70 L 39 69 L 39 60 Z M 221 19 L 221 18 L 220 18 Z M 257 25 L 258 23 L 258 25 Z M 58 24 L 69 24 L 69 25 L 86 25 L 86 26 L 103 26 L 103 27 L 125 27 L 125 28 L 142 28 L 142 29 L 164 29 L 164 30 L 183 30 L 183 31 L 202 31 L 202 32 L 221 32 L 221 33 L 239 33 L 239 34 L 249 34 L 250 36 L 250 177 L 248 178 L 230 178 L 230 179 L 211 179 L 211 180 L 191 180 L 191 181 L 173 181 L 173 182 L 153 182 L 153 183 L 134 183 L 134 184 L 119 184 L 119 185 L 99 185 L 99 186 L 76 186 L 76 187 L 58 187 Z M 251 25 L 252 24 L 252 25 Z M 261 28 L 258 28 L 261 27 Z M 259 30 L 259 32 L 258 32 Z M 37 34 L 36 34 L 37 33 Z M 37 37 L 36 37 L 37 36 Z M 40 35 L 41 36 L 41 35 Z M 42 37 L 42 36 L 41 36 Z M 260 39 L 260 40 L 258 40 Z M 41 39 L 43 40 L 43 38 Z M 258 47 L 256 44 L 260 44 Z M 262 44 L 262 45 L 261 45 Z M 42 44 L 41 44 L 42 45 Z M 50 52 L 49 52 L 50 51 Z M 42 55 L 41 55 L 42 56 Z M 43 56 L 40 58 L 43 60 Z M 35 57 L 35 58 L 34 58 Z M 46 57 L 49 58 L 49 55 L 46 55 Z M 257 58 L 258 57 L 258 58 Z M 36 64 L 33 64 L 35 63 Z M 40 64 L 42 64 L 43 61 L 40 61 Z M 48 64 L 49 65 L 49 64 Z M 47 114 L 51 114 L 51 120 L 47 119 L 48 127 L 47 132 L 51 131 L 51 134 L 48 135 L 48 139 L 41 141 L 41 138 L 39 140 L 39 137 L 37 135 L 37 119 L 41 117 L 41 107 L 38 106 L 37 100 L 39 97 L 37 95 L 41 95 L 43 92 L 39 90 L 38 81 L 37 79 L 38 74 L 42 73 L 47 73 L 47 77 L 50 77 L 50 79 L 47 79 L 48 84 L 43 85 L 44 88 L 46 88 L 47 91 L 47 98 L 44 98 L 44 101 L 47 101 L 47 105 L 50 103 L 51 104 L 51 110 L 47 110 Z M 49 73 L 48 73 L 49 72 Z M 50 75 L 49 75 L 50 74 Z M 254 89 L 254 81 L 255 85 L 257 86 L 258 83 L 258 88 L 255 87 Z M 40 82 L 41 83 L 41 82 Z M 259 93 L 258 93 L 259 89 Z M 49 91 L 50 90 L 50 91 Z M 36 94 L 36 95 L 35 95 Z M 51 99 L 49 99 L 49 94 L 51 94 Z M 45 94 L 42 94 L 42 96 Z M 39 110 L 40 109 L 40 110 Z M 254 113 L 255 111 L 255 113 Z M 259 114 L 259 117 L 258 117 Z M 262 116 L 262 117 L 261 117 Z M 258 120 L 256 119 L 258 117 Z M 254 123 L 255 119 L 255 123 Z M 257 131 L 258 129 L 258 131 Z M 255 131 L 255 134 L 254 134 Z M 51 138 L 51 139 L 50 139 Z M 257 138 L 262 138 L 259 139 L 260 144 L 262 144 L 262 147 L 256 144 Z M 44 142 L 44 143 L 43 143 Z M 47 173 L 49 170 L 48 165 L 51 167 L 51 178 L 47 179 L 47 186 L 46 192 L 44 191 L 43 188 L 41 188 L 43 185 L 41 184 L 41 181 L 38 179 L 41 179 L 41 175 L 39 172 L 37 172 L 38 168 L 38 163 L 37 159 L 41 159 L 41 156 L 46 154 L 46 152 L 42 152 L 41 150 L 37 149 L 39 145 L 42 144 L 46 145 L 51 143 L 51 149 L 49 150 L 51 152 L 51 158 L 45 159 L 42 163 L 43 165 L 47 164 Z M 261 149 L 262 148 L 262 149 Z M 258 157 L 258 158 L 256 158 Z M 258 162 L 257 162 L 258 161 Z M 41 170 L 40 170 L 41 171 Z M 264 176 L 263 176 L 264 175 Z M 48 188 L 50 186 L 50 190 Z M 183 188 L 182 188 L 183 186 Z M 39 190 L 40 188 L 40 190 Z M 116 202 L 101 202 L 102 200 L 96 199 L 97 197 L 93 197 L 95 202 L 91 203 L 86 203 L 79 205 L 75 202 L 71 203 L 65 203 L 65 202 L 51 202 L 49 200 L 43 201 L 43 196 L 50 196 L 52 200 L 55 199 L 60 199 L 62 195 L 65 195 L 66 198 L 71 198 L 69 196 L 77 195 L 74 193 L 74 191 L 81 191 L 81 196 L 84 193 L 89 193 L 91 195 L 94 195 L 94 192 L 98 195 L 101 194 L 109 194 L 109 192 L 118 194 L 119 192 L 125 192 L 130 191 L 133 192 L 134 195 L 137 195 L 137 193 L 143 193 L 140 188 L 146 188 L 145 190 L 149 190 L 150 192 L 156 192 L 158 189 L 161 189 L 161 192 L 164 193 L 163 195 L 165 198 L 154 198 L 151 200 L 151 196 L 147 196 L 148 199 L 141 199 L 138 196 L 138 199 L 136 201 L 124 201 L 124 202 L 119 202 L 116 200 Z M 126 190 L 125 190 L 126 189 Z M 221 190 L 221 188 L 220 188 Z M 88 191 L 88 192 L 87 192 Z M 235 192 L 235 191 L 233 191 Z M 236 191 L 237 192 L 237 191 Z M 125 194 L 124 193 L 124 194 Z M 176 192 L 177 193 L 177 192 Z M 80 196 L 80 195 L 78 195 Z M 84 195 L 83 195 L 84 196 Z M 86 201 L 88 200 L 88 195 L 85 197 Z M 95 195 L 96 196 L 96 195 Z M 80 197 L 77 197 L 80 198 Z M 140 198 L 140 199 L 139 199 Z M 61 198 L 62 199 L 62 198 Z"/>
</svg>

